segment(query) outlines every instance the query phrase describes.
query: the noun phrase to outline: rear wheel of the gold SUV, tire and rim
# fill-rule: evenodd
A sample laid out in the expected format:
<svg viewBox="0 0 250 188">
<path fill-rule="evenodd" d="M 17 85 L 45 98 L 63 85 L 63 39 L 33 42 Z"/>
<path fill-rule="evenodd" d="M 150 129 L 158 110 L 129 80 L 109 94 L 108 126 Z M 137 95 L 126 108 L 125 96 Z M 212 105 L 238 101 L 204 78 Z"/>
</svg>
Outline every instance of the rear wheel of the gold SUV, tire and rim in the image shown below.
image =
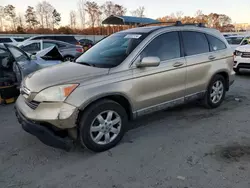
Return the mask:
<svg viewBox="0 0 250 188">
<path fill-rule="evenodd" d="M 215 75 L 207 88 L 204 105 L 207 108 L 217 108 L 221 105 L 226 94 L 226 81 L 221 75 Z"/>
</svg>

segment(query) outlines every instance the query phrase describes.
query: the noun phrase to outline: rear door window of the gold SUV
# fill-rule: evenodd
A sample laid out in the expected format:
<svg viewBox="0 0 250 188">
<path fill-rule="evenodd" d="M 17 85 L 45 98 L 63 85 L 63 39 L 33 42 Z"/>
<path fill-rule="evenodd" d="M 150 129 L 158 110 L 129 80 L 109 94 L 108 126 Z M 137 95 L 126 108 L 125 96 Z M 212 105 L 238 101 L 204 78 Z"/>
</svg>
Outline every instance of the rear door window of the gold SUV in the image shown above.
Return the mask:
<svg viewBox="0 0 250 188">
<path fill-rule="evenodd" d="M 209 52 L 209 45 L 205 34 L 193 31 L 183 31 L 185 55 L 196 55 Z"/>
</svg>

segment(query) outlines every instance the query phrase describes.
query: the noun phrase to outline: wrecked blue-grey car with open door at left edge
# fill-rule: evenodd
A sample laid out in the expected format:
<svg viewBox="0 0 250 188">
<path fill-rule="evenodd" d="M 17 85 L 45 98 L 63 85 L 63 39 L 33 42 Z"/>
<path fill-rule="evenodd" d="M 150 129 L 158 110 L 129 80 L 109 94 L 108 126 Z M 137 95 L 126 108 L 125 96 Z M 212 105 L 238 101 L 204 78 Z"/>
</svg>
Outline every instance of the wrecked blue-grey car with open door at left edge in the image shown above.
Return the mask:
<svg viewBox="0 0 250 188">
<path fill-rule="evenodd" d="M 0 45 L 0 78 L 13 82 L 17 86 L 28 74 L 60 63 L 62 63 L 62 56 L 56 47 L 30 55 L 14 45 Z"/>
</svg>

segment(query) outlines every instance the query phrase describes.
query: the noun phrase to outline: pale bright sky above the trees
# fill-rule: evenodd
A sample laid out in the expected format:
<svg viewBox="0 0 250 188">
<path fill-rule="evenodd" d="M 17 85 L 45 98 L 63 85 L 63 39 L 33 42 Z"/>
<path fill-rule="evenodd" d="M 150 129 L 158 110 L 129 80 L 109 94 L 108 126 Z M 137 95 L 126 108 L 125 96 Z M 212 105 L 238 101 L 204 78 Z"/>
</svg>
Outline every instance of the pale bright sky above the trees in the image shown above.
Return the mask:
<svg viewBox="0 0 250 188">
<path fill-rule="evenodd" d="M 41 0 L 0 0 L 0 5 L 12 4 L 17 13 L 24 13 L 27 6 L 36 6 Z M 61 13 L 62 25 L 69 24 L 69 12 L 77 11 L 78 0 L 47 0 L 56 10 Z M 93 1 L 93 0 L 91 0 Z M 95 0 L 98 4 L 106 0 Z M 149 18 L 159 18 L 177 11 L 182 11 L 184 16 L 194 16 L 197 10 L 204 14 L 220 13 L 231 17 L 233 23 L 250 23 L 250 0 L 112 0 L 121 4 L 130 11 L 144 6 L 145 15 Z"/>
</svg>

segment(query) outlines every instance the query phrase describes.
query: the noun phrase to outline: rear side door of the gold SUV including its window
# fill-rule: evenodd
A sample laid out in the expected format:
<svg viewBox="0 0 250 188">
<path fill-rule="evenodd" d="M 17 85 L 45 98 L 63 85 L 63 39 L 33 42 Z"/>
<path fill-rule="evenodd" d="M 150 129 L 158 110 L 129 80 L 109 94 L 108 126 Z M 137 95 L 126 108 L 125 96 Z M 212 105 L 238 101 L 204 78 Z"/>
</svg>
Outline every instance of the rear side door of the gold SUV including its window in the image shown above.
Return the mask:
<svg viewBox="0 0 250 188">
<path fill-rule="evenodd" d="M 187 61 L 186 97 L 199 96 L 207 89 L 219 46 L 212 46 L 208 42 L 208 35 L 197 31 L 182 31 L 185 58 Z M 211 39 L 212 40 L 212 39 Z M 211 49 L 213 48 L 213 49 Z"/>
</svg>

